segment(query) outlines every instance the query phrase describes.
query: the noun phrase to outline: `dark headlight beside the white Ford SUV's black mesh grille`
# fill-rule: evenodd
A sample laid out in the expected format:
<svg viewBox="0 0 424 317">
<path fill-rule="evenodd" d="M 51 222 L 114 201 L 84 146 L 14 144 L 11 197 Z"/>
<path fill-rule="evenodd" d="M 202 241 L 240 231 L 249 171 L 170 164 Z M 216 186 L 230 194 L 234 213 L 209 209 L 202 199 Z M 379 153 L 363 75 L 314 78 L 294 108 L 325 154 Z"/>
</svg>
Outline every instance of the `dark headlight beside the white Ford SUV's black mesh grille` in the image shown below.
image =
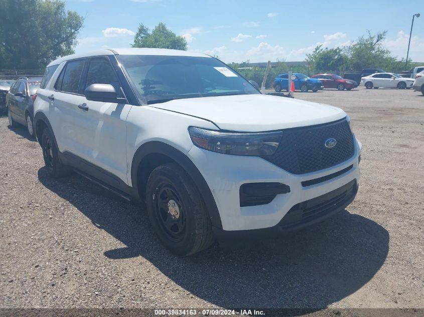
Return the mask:
<svg viewBox="0 0 424 317">
<path fill-rule="evenodd" d="M 231 155 L 272 155 L 278 148 L 282 132 L 221 132 L 189 128 L 193 144 L 216 153 Z"/>
</svg>

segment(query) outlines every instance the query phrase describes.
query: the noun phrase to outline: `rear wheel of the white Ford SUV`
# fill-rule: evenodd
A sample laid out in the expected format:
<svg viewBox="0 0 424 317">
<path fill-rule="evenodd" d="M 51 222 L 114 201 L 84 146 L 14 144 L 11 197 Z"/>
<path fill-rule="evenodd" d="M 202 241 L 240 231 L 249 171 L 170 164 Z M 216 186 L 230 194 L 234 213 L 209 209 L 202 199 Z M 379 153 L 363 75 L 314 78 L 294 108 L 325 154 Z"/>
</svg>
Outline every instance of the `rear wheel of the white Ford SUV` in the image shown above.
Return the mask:
<svg viewBox="0 0 424 317">
<path fill-rule="evenodd" d="M 59 160 L 58 150 L 54 139 L 47 128 L 43 130 L 41 148 L 43 150 L 44 163 L 46 164 L 47 171 L 51 177 L 61 177 L 69 173 L 69 168 L 62 164 Z"/>
</svg>

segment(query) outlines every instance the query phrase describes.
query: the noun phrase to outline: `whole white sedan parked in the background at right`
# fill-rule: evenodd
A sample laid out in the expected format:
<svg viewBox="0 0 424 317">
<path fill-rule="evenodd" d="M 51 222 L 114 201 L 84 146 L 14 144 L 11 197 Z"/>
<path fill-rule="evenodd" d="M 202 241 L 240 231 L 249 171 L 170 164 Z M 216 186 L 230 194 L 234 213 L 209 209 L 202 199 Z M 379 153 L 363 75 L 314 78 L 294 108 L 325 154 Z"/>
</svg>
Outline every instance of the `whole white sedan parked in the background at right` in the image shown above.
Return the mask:
<svg viewBox="0 0 424 317">
<path fill-rule="evenodd" d="M 376 73 L 366 77 L 362 77 L 360 85 L 365 86 L 367 89 L 371 88 L 399 88 L 410 89 L 414 80 L 405 78 L 394 73 Z"/>
</svg>

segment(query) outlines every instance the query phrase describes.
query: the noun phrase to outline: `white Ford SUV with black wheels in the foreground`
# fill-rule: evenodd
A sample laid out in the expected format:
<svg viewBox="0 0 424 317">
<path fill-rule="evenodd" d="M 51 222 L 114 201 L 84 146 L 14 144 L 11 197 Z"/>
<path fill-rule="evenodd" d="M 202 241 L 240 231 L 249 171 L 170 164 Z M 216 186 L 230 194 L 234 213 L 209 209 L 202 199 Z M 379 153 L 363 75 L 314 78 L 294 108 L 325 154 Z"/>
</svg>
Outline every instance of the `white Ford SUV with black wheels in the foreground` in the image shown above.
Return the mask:
<svg viewBox="0 0 424 317">
<path fill-rule="evenodd" d="M 266 96 L 219 60 L 163 49 L 52 62 L 34 105 L 53 177 L 70 170 L 146 201 L 160 240 L 274 237 L 345 208 L 361 145 L 336 107 Z"/>
</svg>

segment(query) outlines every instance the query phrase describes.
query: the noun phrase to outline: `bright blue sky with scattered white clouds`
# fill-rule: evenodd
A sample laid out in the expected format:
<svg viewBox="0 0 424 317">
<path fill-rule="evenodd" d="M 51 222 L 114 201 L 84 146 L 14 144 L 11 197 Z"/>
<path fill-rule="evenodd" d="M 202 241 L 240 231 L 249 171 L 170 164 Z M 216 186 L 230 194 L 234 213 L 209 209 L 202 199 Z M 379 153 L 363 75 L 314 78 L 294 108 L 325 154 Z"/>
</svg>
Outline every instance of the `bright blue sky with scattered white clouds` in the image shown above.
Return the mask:
<svg viewBox="0 0 424 317">
<path fill-rule="evenodd" d="M 384 46 L 405 58 L 412 15 L 420 13 L 409 57 L 424 62 L 424 0 L 68 0 L 66 7 L 85 17 L 76 53 L 130 47 L 138 24 L 163 22 L 190 51 L 226 63 L 303 61 L 318 44 L 347 45 L 367 29 L 387 30 Z"/>
</svg>

